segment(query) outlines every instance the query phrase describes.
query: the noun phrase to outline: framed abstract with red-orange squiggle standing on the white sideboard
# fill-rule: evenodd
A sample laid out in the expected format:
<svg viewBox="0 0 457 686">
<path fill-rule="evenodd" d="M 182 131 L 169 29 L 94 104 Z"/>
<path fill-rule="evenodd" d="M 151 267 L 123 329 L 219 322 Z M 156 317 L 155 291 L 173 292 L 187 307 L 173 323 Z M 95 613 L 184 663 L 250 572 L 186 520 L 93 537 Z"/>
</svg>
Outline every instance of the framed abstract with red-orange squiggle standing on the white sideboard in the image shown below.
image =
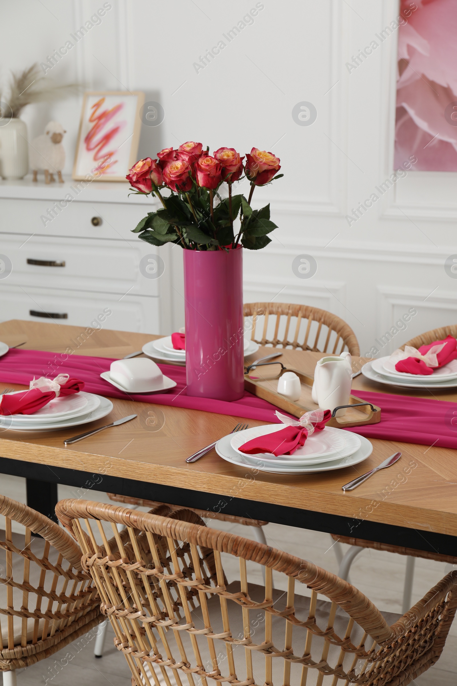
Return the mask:
<svg viewBox="0 0 457 686">
<path fill-rule="evenodd" d="M 140 139 L 140 91 L 84 93 L 76 145 L 75 180 L 125 181 Z"/>
</svg>

